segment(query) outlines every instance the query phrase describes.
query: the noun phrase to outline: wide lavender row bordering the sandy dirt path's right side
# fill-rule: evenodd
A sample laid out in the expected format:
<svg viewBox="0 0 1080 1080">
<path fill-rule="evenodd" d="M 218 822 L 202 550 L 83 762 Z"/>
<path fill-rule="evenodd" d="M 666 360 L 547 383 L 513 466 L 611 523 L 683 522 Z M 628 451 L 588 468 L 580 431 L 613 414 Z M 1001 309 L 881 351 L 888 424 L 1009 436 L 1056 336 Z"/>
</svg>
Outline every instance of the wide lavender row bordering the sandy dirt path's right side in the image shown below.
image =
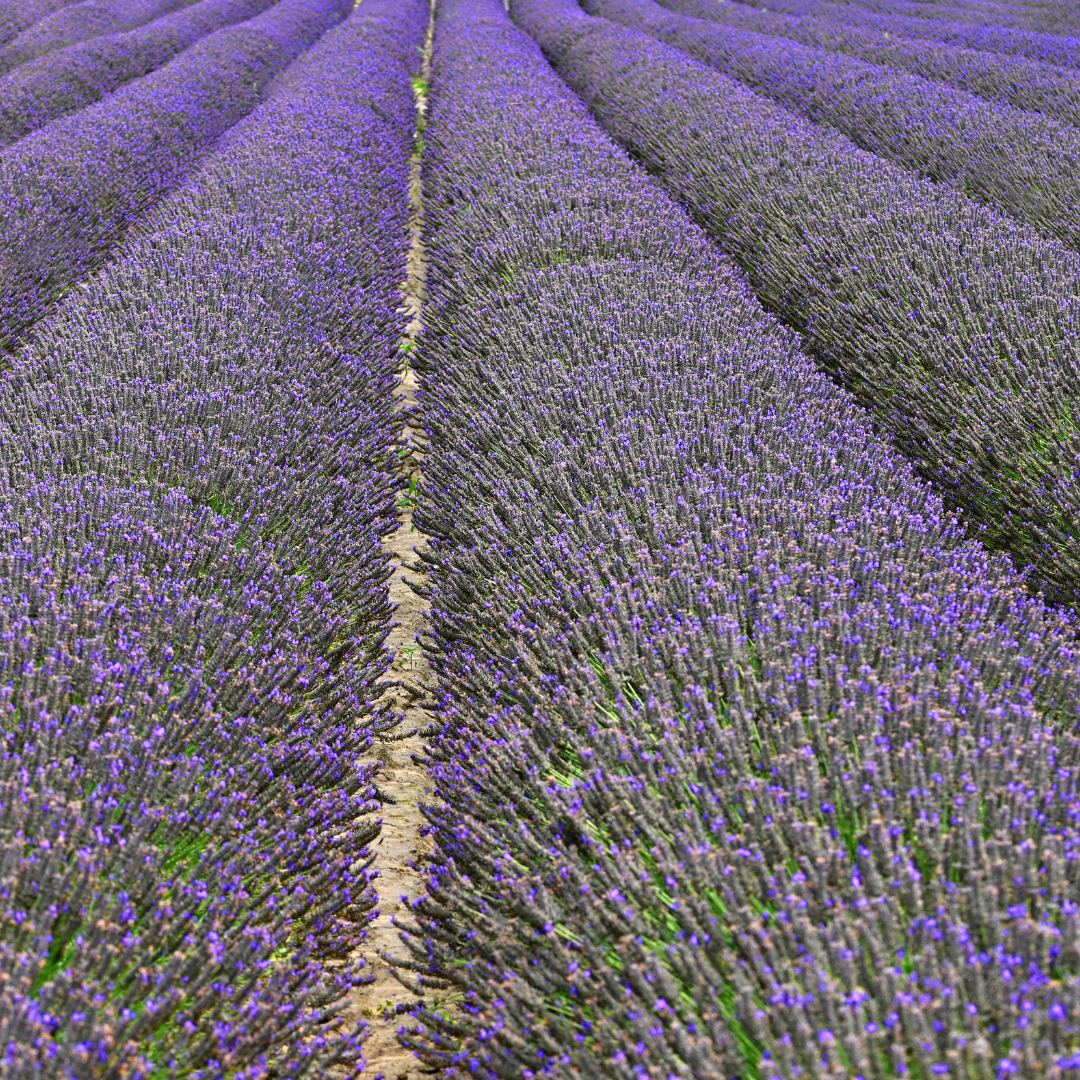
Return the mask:
<svg viewBox="0 0 1080 1080">
<path fill-rule="evenodd" d="M 407 941 L 454 1005 L 406 1045 L 490 1078 L 1059 1076 L 1070 624 L 498 0 L 438 4 L 430 95 L 438 802 Z"/>
</svg>

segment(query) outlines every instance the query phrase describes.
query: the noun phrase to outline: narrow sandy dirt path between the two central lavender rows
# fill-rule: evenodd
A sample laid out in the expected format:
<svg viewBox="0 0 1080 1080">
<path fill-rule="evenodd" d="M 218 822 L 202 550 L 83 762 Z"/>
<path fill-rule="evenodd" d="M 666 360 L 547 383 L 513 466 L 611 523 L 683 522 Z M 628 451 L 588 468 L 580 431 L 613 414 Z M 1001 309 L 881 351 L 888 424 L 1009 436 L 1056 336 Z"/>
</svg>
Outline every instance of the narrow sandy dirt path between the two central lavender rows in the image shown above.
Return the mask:
<svg viewBox="0 0 1080 1080">
<path fill-rule="evenodd" d="M 431 57 L 431 31 L 429 29 L 424 65 L 417 86 L 417 109 L 423 116 L 427 105 L 427 80 Z M 403 476 L 408 481 L 408 490 L 415 490 L 423 465 L 427 446 L 423 430 L 418 426 L 417 378 L 408 366 L 409 347 L 416 340 L 422 325 L 423 282 L 426 256 L 423 249 L 423 200 L 420 188 L 420 154 L 413 157 L 409 185 L 411 203 L 411 248 L 408 260 L 408 276 L 405 284 L 405 310 L 409 323 L 405 332 L 404 369 L 394 396 L 402 414 L 401 453 L 406 454 L 402 464 Z M 418 861 L 430 852 L 430 842 L 420 835 L 423 818 L 419 802 L 428 794 L 430 780 L 424 769 L 416 765 L 414 755 L 423 753 L 423 743 L 417 732 L 431 723 L 431 714 L 423 707 L 430 702 L 430 687 L 434 683 L 431 666 L 416 637 L 428 624 L 424 602 L 407 584 L 408 580 L 422 580 L 422 575 L 410 569 L 416 564 L 414 550 L 422 550 L 427 537 L 413 526 L 413 501 L 407 494 L 399 503 L 399 525 L 384 540 L 390 553 L 394 575 L 390 580 L 390 599 L 396 605 L 395 625 L 390 632 L 387 645 L 394 656 L 393 666 L 387 674 L 390 685 L 382 697 L 383 702 L 393 702 L 405 714 L 405 719 L 394 731 L 395 741 L 376 744 L 373 757 L 381 762 L 378 778 L 379 791 L 394 804 L 388 804 L 382 813 L 382 834 L 375 841 L 375 865 L 379 872 L 376 888 L 379 892 L 379 915 L 368 929 L 368 940 L 362 951 L 375 969 L 375 982 L 364 987 L 348 1010 L 350 1017 L 362 1016 L 372 1026 L 372 1035 L 364 1043 L 367 1058 L 366 1074 L 375 1077 L 382 1074 L 387 1080 L 416 1080 L 421 1075 L 420 1063 L 397 1042 L 396 1031 L 408 1017 L 383 1018 L 388 1008 L 409 1003 L 416 998 L 394 978 L 388 964 L 379 954 L 403 956 L 397 930 L 393 924 L 395 916 L 404 916 L 406 906 L 401 896 L 416 897 L 421 891 Z M 406 738 L 401 739 L 401 735 Z M 424 1070 L 428 1071 L 428 1070 Z"/>
</svg>

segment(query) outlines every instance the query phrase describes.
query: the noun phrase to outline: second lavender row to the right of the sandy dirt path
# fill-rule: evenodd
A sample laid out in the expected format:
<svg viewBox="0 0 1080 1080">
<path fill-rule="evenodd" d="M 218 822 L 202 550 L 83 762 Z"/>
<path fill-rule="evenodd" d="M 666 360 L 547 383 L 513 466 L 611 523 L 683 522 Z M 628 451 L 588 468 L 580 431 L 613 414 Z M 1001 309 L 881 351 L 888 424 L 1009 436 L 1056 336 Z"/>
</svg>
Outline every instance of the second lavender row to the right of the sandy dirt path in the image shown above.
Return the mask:
<svg viewBox="0 0 1080 1080">
<path fill-rule="evenodd" d="M 1080 603 L 1080 258 L 571 0 L 519 10 L 985 542 Z"/>
</svg>

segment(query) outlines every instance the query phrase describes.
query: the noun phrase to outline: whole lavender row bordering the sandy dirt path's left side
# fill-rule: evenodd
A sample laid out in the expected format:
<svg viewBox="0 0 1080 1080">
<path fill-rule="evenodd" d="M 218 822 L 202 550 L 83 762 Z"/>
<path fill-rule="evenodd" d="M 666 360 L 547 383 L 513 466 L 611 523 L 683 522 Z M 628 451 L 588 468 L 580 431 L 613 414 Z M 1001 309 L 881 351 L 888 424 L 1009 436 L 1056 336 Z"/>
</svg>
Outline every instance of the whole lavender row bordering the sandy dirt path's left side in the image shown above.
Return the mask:
<svg viewBox="0 0 1080 1080">
<path fill-rule="evenodd" d="M 357 1071 L 426 23 L 365 0 L 0 381 L 5 1077 Z"/>
</svg>

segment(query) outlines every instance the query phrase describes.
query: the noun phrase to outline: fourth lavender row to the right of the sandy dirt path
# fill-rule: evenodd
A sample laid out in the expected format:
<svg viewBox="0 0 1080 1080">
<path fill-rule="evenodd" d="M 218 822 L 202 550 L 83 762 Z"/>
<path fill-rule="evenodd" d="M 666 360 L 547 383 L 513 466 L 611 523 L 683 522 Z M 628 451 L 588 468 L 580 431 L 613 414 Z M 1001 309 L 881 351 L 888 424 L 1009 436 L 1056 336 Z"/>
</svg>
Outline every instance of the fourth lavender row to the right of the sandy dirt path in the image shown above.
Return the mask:
<svg viewBox="0 0 1080 1080">
<path fill-rule="evenodd" d="M 860 29 L 850 26 L 842 12 L 833 19 L 813 18 L 716 0 L 663 0 L 663 6 L 691 18 L 789 38 L 814 49 L 910 71 L 924 79 L 971 91 L 987 100 L 1043 112 L 1070 124 L 1080 123 L 1080 75 L 1063 71 L 1051 64 L 918 41 L 905 38 L 895 29 Z"/>
</svg>

